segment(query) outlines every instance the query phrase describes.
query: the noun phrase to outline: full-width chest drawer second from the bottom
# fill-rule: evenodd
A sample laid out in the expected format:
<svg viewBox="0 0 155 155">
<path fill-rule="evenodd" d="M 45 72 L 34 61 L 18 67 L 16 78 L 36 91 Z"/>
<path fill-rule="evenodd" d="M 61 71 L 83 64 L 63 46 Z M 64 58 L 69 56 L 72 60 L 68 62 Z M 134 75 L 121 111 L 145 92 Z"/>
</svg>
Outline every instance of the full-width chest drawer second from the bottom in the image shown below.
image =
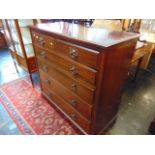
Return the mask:
<svg viewBox="0 0 155 155">
<path fill-rule="evenodd" d="M 61 96 L 61 98 L 87 119 L 91 119 L 92 106 L 90 104 L 83 101 L 80 97 L 70 92 L 70 90 L 62 86 L 58 81 L 52 79 L 42 71 L 40 71 L 40 78 L 42 84 L 47 85 L 50 90 Z"/>
</svg>

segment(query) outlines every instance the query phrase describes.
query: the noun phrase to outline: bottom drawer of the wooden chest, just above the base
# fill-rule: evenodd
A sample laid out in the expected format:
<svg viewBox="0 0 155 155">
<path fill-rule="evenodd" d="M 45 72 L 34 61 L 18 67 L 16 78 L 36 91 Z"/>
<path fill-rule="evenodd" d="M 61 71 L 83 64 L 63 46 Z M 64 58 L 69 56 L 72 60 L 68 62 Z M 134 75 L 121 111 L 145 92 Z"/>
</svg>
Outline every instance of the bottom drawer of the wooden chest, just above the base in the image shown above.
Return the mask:
<svg viewBox="0 0 155 155">
<path fill-rule="evenodd" d="M 77 123 L 86 132 L 90 131 L 90 121 L 78 113 L 72 106 L 66 103 L 60 96 L 56 95 L 51 89 L 42 83 L 43 92 L 52 100 L 55 104 L 65 112 L 75 123 Z"/>
</svg>

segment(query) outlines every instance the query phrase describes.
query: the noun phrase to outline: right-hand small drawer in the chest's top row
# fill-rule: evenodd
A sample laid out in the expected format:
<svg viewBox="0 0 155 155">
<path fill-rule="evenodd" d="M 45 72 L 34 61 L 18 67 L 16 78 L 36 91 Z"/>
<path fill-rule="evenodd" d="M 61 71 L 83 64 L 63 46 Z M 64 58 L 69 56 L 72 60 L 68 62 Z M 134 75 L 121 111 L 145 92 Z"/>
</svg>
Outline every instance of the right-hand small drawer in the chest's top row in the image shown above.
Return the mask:
<svg viewBox="0 0 155 155">
<path fill-rule="evenodd" d="M 98 68 L 99 52 L 56 40 L 55 49 L 58 53 L 91 68 Z"/>
</svg>

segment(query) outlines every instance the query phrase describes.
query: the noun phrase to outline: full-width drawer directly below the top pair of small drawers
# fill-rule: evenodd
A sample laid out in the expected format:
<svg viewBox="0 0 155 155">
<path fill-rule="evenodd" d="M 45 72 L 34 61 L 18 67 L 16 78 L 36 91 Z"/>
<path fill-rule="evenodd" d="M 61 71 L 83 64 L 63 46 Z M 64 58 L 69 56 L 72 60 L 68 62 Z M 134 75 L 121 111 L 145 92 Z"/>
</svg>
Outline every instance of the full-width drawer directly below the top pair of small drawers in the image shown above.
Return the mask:
<svg viewBox="0 0 155 155">
<path fill-rule="evenodd" d="M 45 49 L 35 47 L 35 51 L 37 56 L 40 57 L 40 59 L 48 61 L 51 64 L 57 65 L 59 68 L 65 70 L 65 72 L 68 75 L 77 79 L 87 81 L 91 84 L 95 84 L 95 78 L 97 73 L 96 70 L 76 63 L 74 61 L 65 59 L 62 56 L 57 55 L 56 51 L 54 50 L 48 51 Z"/>
</svg>

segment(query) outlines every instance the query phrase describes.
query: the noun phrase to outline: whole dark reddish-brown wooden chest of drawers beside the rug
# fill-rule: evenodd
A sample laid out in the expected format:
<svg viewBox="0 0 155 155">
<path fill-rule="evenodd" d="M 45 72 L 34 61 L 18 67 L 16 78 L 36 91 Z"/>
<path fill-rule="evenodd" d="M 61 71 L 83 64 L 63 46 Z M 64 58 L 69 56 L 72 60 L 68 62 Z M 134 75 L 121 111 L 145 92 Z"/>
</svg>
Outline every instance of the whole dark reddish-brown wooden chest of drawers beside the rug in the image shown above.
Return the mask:
<svg viewBox="0 0 155 155">
<path fill-rule="evenodd" d="M 30 26 L 42 94 L 84 134 L 116 119 L 138 34 L 65 22 Z"/>
</svg>

